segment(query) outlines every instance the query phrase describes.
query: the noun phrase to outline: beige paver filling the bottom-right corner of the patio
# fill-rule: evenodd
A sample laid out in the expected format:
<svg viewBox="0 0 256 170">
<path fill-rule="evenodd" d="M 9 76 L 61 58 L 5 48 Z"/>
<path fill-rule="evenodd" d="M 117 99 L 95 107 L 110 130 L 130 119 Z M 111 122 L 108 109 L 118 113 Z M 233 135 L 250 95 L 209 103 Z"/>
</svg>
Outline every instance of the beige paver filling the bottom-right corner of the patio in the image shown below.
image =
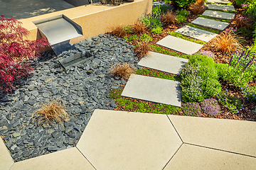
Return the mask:
<svg viewBox="0 0 256 170">
<path fill-rule="evenodd" d="M 256 158 L 183 144 L 164 170 L 256 169 Z"/>
</svg>

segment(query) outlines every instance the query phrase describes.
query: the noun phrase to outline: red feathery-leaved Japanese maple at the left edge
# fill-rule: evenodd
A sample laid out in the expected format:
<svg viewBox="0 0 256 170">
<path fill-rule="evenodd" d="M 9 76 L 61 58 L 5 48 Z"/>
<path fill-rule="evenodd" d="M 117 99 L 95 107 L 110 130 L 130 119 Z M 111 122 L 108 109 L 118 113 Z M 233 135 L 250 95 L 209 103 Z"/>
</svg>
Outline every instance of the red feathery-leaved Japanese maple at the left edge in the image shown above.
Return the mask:
<svg viewBox="0 0 256 170">
<path fill-rule="evenodd" d="M 24 40 L 29 33 L 15 18 L 0 15 L 0 92 L 15 89 L 14 81 L 31 74 L 33 68 L 28 60 L 40 56 L 39 50 L 49 45 L 46 38 Z"/>
</svg>

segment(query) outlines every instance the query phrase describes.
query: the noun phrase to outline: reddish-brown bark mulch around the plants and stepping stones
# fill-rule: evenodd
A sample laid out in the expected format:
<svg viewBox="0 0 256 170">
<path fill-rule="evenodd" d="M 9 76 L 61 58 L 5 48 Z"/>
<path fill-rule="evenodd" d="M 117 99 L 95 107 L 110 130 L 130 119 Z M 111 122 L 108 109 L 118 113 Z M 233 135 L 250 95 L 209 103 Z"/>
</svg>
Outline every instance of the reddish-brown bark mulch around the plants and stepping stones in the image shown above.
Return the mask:
<svg viewBox="0 0 256 170">
<path fill-rule="evenodd" d="M 233 0 L 231 0 L 233 2 Z M 234 4 L 234 3 L 233 3 Z M 235 18 L 233 19 L 233 21 L 231 21 L 230 26 L 229 27 L 233 27 L 234 26 L 234 22 L 237 18 L 239 18 L 242 15 L 242 10 L 240 8 L 238 8 L 238 6 L 235 6 L 235 10 L 237 10 L 238 12 L 235 15 Z M 164 33 L 160 33 L 160 34 L 151 34 L 151 32 L 149 30 L 147 30 L 145 33 L 147 35 L 150 35 L 151 38 L 153 38 L 153 40 L 151 42 L 149 42 L 149 45 L 156 45 L 156 42 L 158 42 L 159 40 L 165 38 L 167 35 L 169 35 L 170 31 L 175 31 L 178 30 L 178 28 L 181 28 L 183 26 L 186 25 L 186 23 L 190 23 L 191 21 L 195 20 L 196 18 L 198 18 L 197 15 L 190 15 L 187 17 L 187 21 L 185 23 L 174 23 L 170 26 L 165 25 L 163 26 L 163 31 Z M 202 27 L 202 26 L 201 26 Z M 206 27 L 204 27 L 206 28 Z M 207 28 L 208 29 L 208 28 Z M 212 29 L 215 30 L 215 29 Z M 218 30 L 220 31 L 220 30 Z M 221 32 L 221 31 L 220 31 Z M 132 34 L 130 34 L 132 35 Z M 245 38 L 245 42 L 243 42 L 243 45 L 245 47 L 250 47 L 252 45 L 252 43 L 254 42 L 253 38 L 246 38 L 243 35 L 239 35 L 242 38 Z M 139 37 L 139 35 L 138 35 Z M 140 42 L 140 40 L 133 40 L 132 42 L 129 42 L 132 45 L 137 45 L 137 43 Z M 215 55 L 215 62 L 221 62 L 221 63 L 228 63 L 230 60 L 230 54 L 225 54 L 223 52 L 219 52 L 215 49 L 215 47 L 213 47 L 212 45 L 212 40 L 210 40 L 208 43 L 206 43 L 206 45 L 203 46 L 203 48 L 201 50 L 206 50 L 206 51 L 211 51 L 214 53 Z M 156 45 L 159 46 L 159 45 Z M 176 52 L 175 50 L 171 50 L 169 48 L 166 47 L 162 47 L 159 46 L 164 50 L 167 50 L 169 52 Z M 154 51 L 154 50 L 153 50 Z M 183 55 L 181 52 L 176 52 L 179 55 Z M 145 69 L 145 67 L 143 68 Z M 149 69 L 149 68 L 146 68 Z M 158 70 L 154 70 L 154 69 L 149 69 L 153 72 L 157 72 L 159 73 L 160 71 Z M 166 72 L 163 72 L 164 74 L 169 74 Z M 172 75 L 172 74 L 169 74 Z M 150 76 L 150 75 L 148 75 Z M 229 93 L 233 96 L 239 96 L 240 98 L 242 98 L 242 92 L 239 89 L 235 89 L 234 86 L 230 86 L 227 82 L 220 80 L 220 84 L 223 87 L 223 90 L 228 89 Z M 250 86 L 256 86 L 256 80 L 251 81 L 250 83 L 248 83 Z M 124 88 L 124 86 L 122 86 Z M 124 98 L 124 97 L 122 97 Z M 213 97 L 215 98 L 215 97 Z M 130 101 L 133 101 L 135 103 L 139 103 L 139 102 L 143 102 L 143 103 L 147 103 L 149 105 L 149 107 L 155 107 L 152 106 L 153 103 L 148 102 L 148 101 L 141 101 L 138 99 L 134 99 L 134 98 L 125 98 L 125 99 L 129 99 Z M 245 109 L 243 109 L 242 111 L 240 111 L 240 113 L 238 114 L 234 114 L 234 113 L 230 113 L 230 111 L 228 110 L 228 108 L 225 108 L 225 106 L 220 105 L 220 114 L 216 115 L 215 117 L 212 117 L 210 115 L 206 115 L 203 114 L 203 117 L 205 118 L 220 118 L 220 119 L 233 119 L 233 120 L 252 120 L 252 121 L 256 121 L 256 114 L 255 114 L 255 107 L 256 107 L 256 102 L 248 102 L 248 101 L 243 101 L 243 104 L 245 106 Z M 137 108 L 133 108 L 133 109 L 125 109 L 124 107 L 120 107 L 117 106 L 117 108 L 115 108 L 115 110 L 117 111 L 136 111 Z M 176 113 L 177 115 L 183 115 L 183 113 Z"/>
</svg>

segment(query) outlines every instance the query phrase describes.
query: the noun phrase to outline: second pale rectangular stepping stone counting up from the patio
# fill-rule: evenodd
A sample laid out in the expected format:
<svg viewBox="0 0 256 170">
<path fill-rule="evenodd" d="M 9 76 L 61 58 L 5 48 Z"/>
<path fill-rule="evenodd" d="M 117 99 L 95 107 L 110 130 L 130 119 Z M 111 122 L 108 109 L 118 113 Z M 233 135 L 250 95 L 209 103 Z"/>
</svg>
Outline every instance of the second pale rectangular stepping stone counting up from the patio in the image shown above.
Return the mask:
<svg viewBox="0 0 256 170">
<path fill-rule="evenodd" d="M 143 67 L 179 75 L 179 72 L 181 72 L 186 63 L 188 63 L 187 59 L 149 52 L 138 64 Z"/>
</svg>

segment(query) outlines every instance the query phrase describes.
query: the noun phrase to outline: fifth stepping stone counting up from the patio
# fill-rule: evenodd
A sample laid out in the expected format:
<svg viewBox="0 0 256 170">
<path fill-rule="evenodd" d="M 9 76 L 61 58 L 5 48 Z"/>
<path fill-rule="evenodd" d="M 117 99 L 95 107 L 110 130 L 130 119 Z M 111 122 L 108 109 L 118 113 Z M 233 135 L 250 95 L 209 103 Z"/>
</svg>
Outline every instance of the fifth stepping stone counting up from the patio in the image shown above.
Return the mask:
<svg viewBox="0 0 256 170">
<path fill-rule="evenodd" d="M 229 25 L 229 23 L 224 23 L 221 21 L 214 21 L 214 20 L 211 20 L 208 18 L 203 18 L 203 17 L 198 17 L 191 23 L 195 23 L 200 26 L 206 26 L 206 27 L 214 28 L 214 29 L 218 29 L 218 30 L 224 30 Z"/>
</svg>

